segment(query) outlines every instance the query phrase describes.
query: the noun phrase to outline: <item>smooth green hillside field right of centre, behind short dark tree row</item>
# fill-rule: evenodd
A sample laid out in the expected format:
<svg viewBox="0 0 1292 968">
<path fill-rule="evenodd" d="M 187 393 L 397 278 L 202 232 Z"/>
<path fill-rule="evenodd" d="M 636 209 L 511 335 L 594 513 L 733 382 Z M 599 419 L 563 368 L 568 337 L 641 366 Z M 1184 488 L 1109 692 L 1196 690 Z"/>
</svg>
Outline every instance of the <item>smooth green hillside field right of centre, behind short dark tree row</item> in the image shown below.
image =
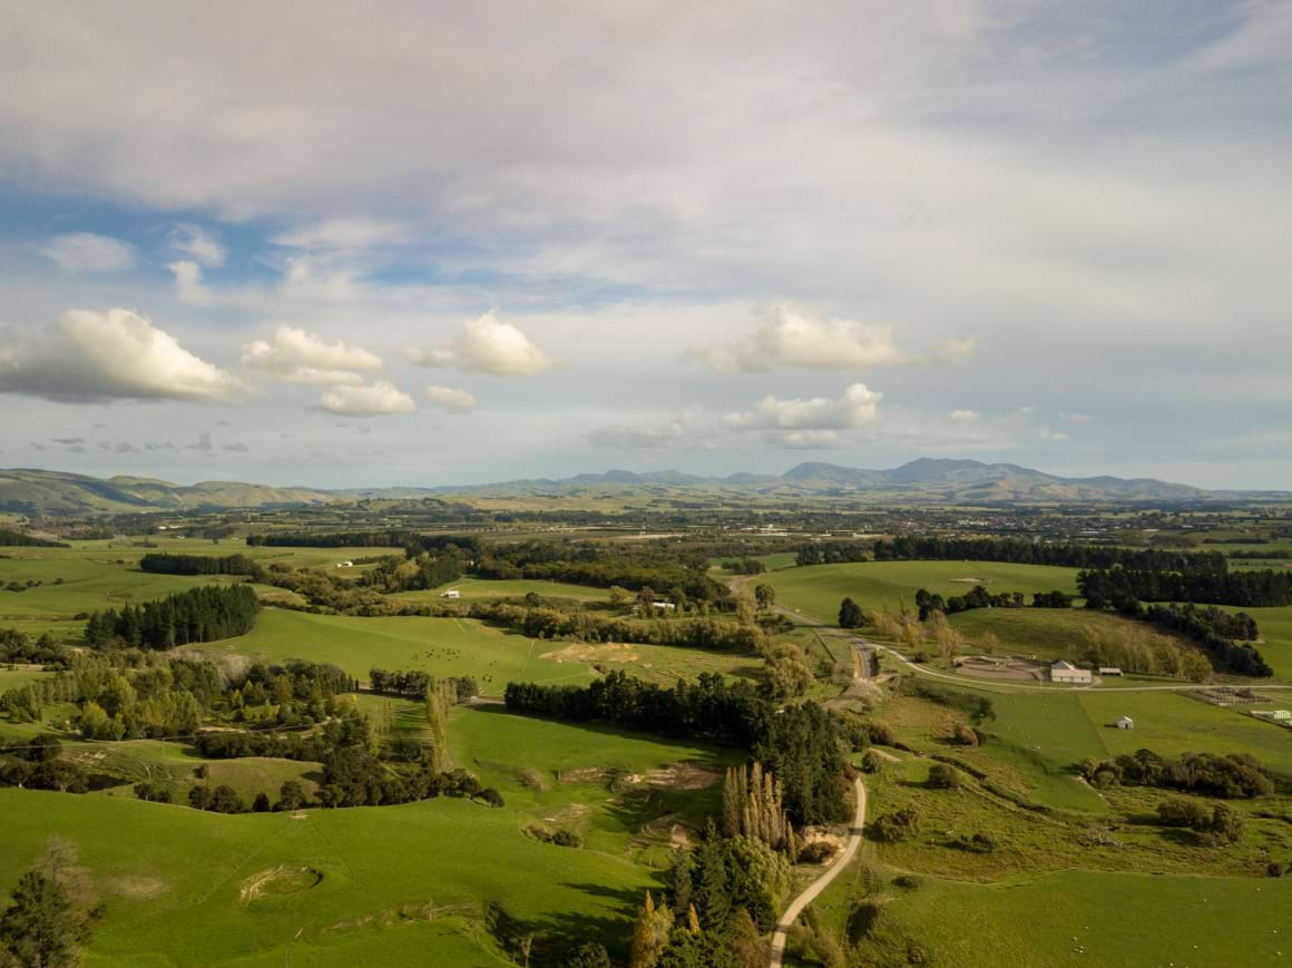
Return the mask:
<svg viewBox="0 0 1292 968">
<path fill-rule="evenodd" d="M 761 576 L 776 589 L 776 604 L 797 609 L 818 622 L 833 624 L 839 604 L 850 597 L 866 611 L 915 607 L 920 588 L 950 597 L 975 584 L 991 592 L 1063 591 L 1076 594 L 1076 569 L 985 561 L 875 561 L 850 565 L 810 565 Z"/>
</svg>

